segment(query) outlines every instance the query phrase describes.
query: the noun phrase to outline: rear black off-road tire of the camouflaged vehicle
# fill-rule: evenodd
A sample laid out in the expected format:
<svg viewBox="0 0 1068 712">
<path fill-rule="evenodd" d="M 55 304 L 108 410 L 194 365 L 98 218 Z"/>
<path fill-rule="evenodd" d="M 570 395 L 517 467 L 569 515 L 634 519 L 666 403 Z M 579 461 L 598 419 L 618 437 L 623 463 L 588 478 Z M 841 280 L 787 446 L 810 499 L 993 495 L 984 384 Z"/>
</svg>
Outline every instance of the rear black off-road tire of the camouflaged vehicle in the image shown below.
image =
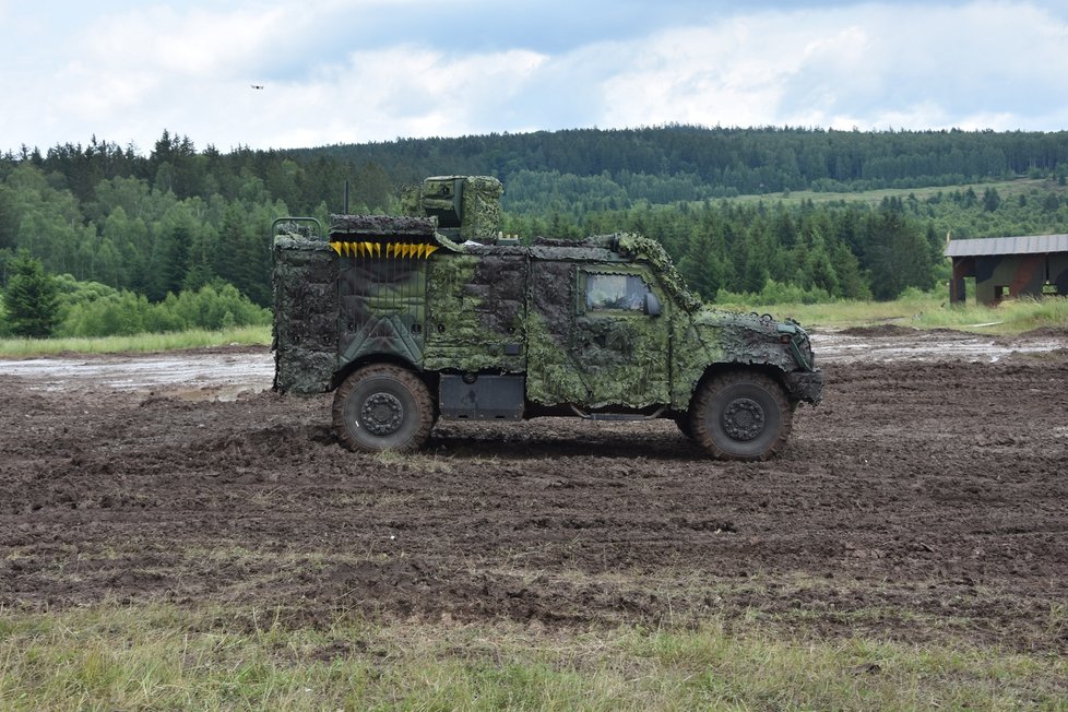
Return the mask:
<svg viewBox="0 0 1068 712">
<path fill-rule="evenodd" d="M 434 427 L 434 402 L 419 378 L 379 364 L 349 373 L 334 393 L 334 432 L 357 452 L 413 452 Z"/>
</svg>

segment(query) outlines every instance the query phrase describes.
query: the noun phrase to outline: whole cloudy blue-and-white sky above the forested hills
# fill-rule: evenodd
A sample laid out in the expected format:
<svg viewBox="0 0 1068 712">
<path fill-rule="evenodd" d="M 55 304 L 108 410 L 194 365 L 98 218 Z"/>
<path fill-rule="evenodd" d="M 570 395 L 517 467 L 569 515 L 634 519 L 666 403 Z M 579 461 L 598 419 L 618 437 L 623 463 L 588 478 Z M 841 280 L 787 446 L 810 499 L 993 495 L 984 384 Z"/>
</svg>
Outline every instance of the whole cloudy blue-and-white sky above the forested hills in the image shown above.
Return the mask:
<svg viewBox="0 0 1068 712">
<path fill-rule="evenodd" d="M 0 151 L 1068 128 L 1068 0 L 0 0 Z"/>
</svg>

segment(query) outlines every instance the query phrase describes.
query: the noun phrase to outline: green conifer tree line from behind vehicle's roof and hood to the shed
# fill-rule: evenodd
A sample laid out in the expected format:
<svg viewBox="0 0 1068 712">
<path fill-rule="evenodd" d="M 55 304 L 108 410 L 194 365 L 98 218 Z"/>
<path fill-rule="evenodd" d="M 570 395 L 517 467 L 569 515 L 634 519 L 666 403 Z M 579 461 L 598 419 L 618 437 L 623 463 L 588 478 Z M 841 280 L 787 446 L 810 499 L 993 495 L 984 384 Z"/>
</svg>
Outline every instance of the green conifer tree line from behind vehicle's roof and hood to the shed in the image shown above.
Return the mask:
<svg viewBox="0 0 1068 712">
<path fill-rule="evenodd" d="M 573 177 L 572 177 L 573 178 Z M 567 182 L 565 180 L 565 182 Z M 1056 181 L 1011 197 L 953 188 L 881 201 L 704 200 L 620 210 L 506 214 L 521 237 L 578 238 L 618 230 L 656 239 L 705 300 L 756 296 L 762 304 L 892 299 L 949 278 L 951 238 L 1064 233 L 1068 201 Z"/>
</svg>

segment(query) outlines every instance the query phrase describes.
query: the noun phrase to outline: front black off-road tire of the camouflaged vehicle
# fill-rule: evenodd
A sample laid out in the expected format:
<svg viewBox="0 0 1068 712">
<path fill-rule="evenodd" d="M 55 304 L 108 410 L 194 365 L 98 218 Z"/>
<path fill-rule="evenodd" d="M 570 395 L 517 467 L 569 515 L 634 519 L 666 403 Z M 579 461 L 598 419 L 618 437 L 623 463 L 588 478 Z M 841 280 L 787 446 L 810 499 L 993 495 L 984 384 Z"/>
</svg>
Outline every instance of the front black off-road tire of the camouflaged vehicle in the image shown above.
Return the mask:
<svg viewBox="0 0 1068 712">
<path fill-rule="evenodd" d="M 690 407 L 690 430 L 717 460 L 768 460 L 786 444 L 793 416 L 770 376 L 727 371 L 701 384 Z"/>
</svg>

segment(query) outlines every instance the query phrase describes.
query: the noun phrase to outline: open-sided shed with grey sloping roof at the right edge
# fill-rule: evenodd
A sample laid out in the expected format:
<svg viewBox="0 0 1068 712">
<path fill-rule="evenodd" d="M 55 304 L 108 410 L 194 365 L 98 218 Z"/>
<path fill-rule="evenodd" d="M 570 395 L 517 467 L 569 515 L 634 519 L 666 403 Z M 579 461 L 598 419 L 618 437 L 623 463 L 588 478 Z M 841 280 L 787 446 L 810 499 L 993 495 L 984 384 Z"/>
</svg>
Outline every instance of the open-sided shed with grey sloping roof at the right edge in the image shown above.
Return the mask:
<svg viewBox="0 0 1068 712">
<path fill-rule="evenodd" d="M 950 240 L 946 257 L 953 260 L 952 302 L 964 301 L 964 277 L 975 277 L 980 304 L 1020 295 L 1068 295 L 1068 235 Z"/>
</svg>

